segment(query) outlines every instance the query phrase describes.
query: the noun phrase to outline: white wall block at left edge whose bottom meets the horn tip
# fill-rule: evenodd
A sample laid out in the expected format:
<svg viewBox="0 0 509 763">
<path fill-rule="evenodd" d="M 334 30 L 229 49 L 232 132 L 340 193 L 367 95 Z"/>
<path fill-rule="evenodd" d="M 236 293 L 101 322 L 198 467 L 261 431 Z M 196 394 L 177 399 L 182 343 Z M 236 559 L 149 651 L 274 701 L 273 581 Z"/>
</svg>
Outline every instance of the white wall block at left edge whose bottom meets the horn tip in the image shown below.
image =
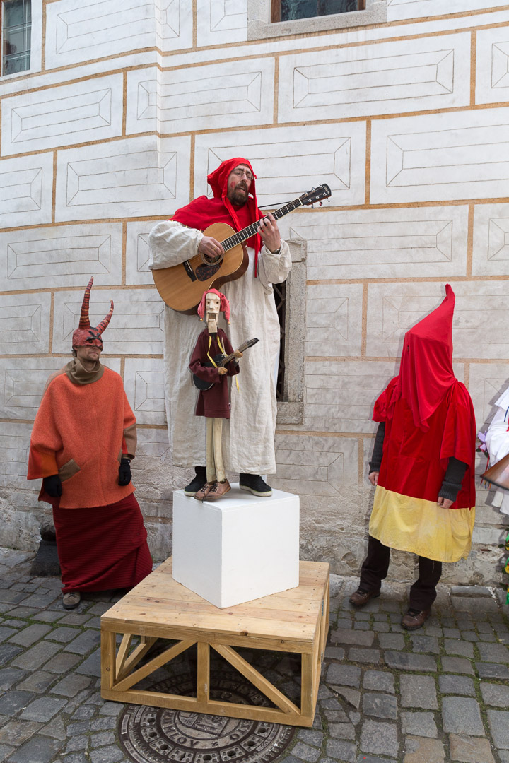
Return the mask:
<svg viewBox="0 0 509 763">
<path fill-rule="evenodd" d="M 0 233 L 4 291 L 121 281 L 122 226 L 66 225 Z"/>
</svg>

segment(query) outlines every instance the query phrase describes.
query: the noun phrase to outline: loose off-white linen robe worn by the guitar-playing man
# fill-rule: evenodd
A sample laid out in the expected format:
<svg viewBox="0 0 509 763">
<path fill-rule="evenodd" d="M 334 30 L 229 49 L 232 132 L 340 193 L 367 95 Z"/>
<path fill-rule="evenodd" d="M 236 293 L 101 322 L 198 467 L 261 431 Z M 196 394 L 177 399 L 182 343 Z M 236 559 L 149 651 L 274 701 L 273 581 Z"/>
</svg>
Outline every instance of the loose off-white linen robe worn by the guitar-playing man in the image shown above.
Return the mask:
<svg viewBox="0 0 509 763">
<path fill-rule="evenodd" d="M 198 252 L 200 230 L 172 221 L 161 222 L 150 232 L 151 270 L 178 265 Z M 275 474 L 275 378 L 279 359 L 279 318 L 272 283 L 285 281 L 292 267 L 288 244 L 273 255 L 263 246 L 254 277 L 254 250 L 250 263 L 237 281 L 224 284 L 230 301 L 230 326 L 220 319 L 230 342 L 240 344 L 257 336 L 259 343 L 240 360 L 239 389 L 230 385 L 230 420 L 223 423 L 223 456 L 227 472 Z M 205 466 L 205 419 L 195 416 L 198 390 L 192 385 L 189 359 L 204 324 L 196 316 L 165 308 L 164 378 L 169 442 L 173 465 Z"/>
</svg>

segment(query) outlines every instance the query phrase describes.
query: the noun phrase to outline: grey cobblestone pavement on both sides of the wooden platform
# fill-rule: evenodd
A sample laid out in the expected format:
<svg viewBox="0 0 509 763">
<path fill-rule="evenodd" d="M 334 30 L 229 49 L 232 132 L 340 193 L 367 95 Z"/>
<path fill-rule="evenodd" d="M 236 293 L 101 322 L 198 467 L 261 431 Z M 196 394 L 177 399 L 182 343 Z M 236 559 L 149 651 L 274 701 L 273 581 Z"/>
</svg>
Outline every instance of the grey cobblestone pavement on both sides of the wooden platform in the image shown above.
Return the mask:
<svg viewBox="0 0 509 763">
<path fill-rule="evenodd" d="M 31 578 L 30 554 L 0 549 L 0 760 L 126 763 L 121 703 L 99 691 L 100 616 L 118 597 L 62 609 L 60 580 Z M 399 621 L 406 587 L 354 611 L 353 578 L 334 578 L 330 636 L 312 729 L 285 763 L 509 763 L 509 611 L 503 591 L 440 587 L 415 633 Z M 292 659 L 257 663 L 289 696 Z"/>
</svg>

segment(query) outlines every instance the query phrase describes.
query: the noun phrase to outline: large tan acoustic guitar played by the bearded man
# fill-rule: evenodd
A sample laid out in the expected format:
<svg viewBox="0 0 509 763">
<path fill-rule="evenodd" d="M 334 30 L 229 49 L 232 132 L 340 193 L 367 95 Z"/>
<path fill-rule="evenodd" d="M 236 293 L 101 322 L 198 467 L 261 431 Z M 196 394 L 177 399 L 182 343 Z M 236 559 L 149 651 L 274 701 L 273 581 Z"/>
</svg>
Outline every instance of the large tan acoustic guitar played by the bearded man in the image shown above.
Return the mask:
<svg viewBox="0 0 509 763">
<path fill-rule="evenodd" d="M 317 188 L 311 188 L 311 191 L 302 194 L 295 201 L 291 201 L 290 204 L 286 204 L 272 214 L 276 220 L 279 220 L 298 207 L 316 204 L 329 196 L 330 188 L 324 183 Z M 195 314 L 204 291 L 209 288 L 220 288 L 227 281 L 236 281 L 240 278 L 249 264 L 249 256 L 243 242 L 252 237 L 257 230 L 258 222 L 238 232 L 226 223 L 209 225 L 203 231 L 205 236 L 221 241 L 224 254 L 217 259 L 209 259 L 205 255 L 197 254 L 171 268 L 153 270 L 152 275 L 157 291 L 168 307 L 179 313 Z"/>
</svg>

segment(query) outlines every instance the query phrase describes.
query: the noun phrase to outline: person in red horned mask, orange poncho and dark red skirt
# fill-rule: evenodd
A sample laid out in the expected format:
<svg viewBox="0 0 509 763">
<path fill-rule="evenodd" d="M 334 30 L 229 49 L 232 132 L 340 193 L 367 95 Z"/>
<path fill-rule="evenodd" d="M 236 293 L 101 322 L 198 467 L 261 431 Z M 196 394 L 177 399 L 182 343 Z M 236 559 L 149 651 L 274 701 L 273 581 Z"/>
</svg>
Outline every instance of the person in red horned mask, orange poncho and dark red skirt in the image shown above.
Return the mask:
<svg viewBox="0 0 509 763">
<path fill-rule="evenodd" d="M 27 479 L 42 478 L 39 501 L 53 507 L 64 609 L 77 607 L 81 592 L 132 588 L 152 571 L 130 473 L 136 419 L 121 376 L 100 362 L 113 302 L 91 327 L 93 281 L 72 333 L 72 360 L 43 391 L 28 461 Z"/>
</svg>

